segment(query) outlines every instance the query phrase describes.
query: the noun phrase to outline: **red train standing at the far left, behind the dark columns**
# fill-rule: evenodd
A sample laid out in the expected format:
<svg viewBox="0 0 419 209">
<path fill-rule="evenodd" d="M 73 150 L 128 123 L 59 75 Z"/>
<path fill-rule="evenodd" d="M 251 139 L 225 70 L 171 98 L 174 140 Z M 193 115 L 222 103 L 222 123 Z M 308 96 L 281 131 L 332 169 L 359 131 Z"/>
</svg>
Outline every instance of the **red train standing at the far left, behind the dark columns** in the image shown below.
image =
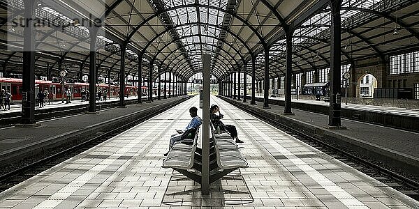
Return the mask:
<svg viewBox="0 0 419 209">
<path fill-rule="evenodd" d="M 22 100 L 22 79 L 4 78 L 0 77 L 0 88 L 9 91 L 12 94 L 13 102 Z M 81 99 L 82 90 L 88 91 L 88 83 L 66 83 L 64 89 L 70 88 L 72 99 Z M 147 86 L 142 86 L 142 95 L 147 95 Z M 54 100 L 61 100 L 61 83 L 54 83 L 52 81 L 35 80 L 35 95 L 39 91 L 45 89 L 54 94 Z M 117 98 L 119 93 L 119 86 L 108 84 L 96 84 L 96 92 L 108 91 L 108 98 Z M 137 86 L 125 86 L 125 95 L 137 95 Z"/>
</svg>

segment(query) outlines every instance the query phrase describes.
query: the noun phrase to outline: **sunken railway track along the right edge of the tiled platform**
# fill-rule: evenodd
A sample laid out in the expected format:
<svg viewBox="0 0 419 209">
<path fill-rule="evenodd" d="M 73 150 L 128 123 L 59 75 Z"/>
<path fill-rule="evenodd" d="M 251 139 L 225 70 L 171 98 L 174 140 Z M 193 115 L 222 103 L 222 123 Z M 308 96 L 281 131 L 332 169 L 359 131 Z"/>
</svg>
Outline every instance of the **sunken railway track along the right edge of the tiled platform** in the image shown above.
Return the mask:
<svg viewBox="0 0 419 209">
<path fill-rule="evenodd" d="M 225 100 L 226 102 L 233 104 L 229 100 Z M 233 104 L 234 105 L 234 104 Z M 361 171 L 362 173 L 371 176 L 372 178 L 384 183 L 396 189 L 407 196 L 410 196 L 412 199 L 416 199 L 419 201 L 419 182 L 413 180 L 412 178 L 406 177 L 407 175 L 398 171 L 397 169 L 385 167 L 381 162 L 375 162 L 374 160 L 369 160 L 365 157 L 359 155 L 359 153 L 353 153 L 351 150 L 346 150 L 339 145 L 335 144 L 328 144 L 325 141 L 321 141 L 320 139 L 316 139 L 316 137 L 309 136 L 300 130 L 296 130 L 293 127 L 288 127 L 279 121 L 275 121 L 272 118 L 267 116 L 263 116 L 256 111 L 251 111 L 242 107 L 241 105 L 235 105 L 246 111 L 247 113 L 256 116 L 262 121 L 270 123 L 274 127 L 277 127 L 279 130 L 290 134 L 295 139 L 303 141 L 305 144 L 312 146 L 318 150 L 321 150 L 323 153 L 334 157 L 335 159 L 348 164 L 349 166 Z M 400 174 L 402 173 L 402 174 Z M 406 175 L 406 176 L 405 176 Z"/>
</svg>

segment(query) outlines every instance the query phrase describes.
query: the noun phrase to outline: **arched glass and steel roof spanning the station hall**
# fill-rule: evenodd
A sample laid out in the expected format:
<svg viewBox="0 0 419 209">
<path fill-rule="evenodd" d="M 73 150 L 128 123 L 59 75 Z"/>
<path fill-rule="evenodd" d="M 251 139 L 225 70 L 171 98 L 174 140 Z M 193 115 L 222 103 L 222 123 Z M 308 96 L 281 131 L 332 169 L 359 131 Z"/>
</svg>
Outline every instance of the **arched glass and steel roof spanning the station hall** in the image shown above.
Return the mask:
<svg viewBox="0 0 419 209">
<path fill-rule="evenodd" d="M 3 72 L 22 72 L 21 31 L 10 20 L 20 17 L 22 0 L 0 0 Z M 36 31 L 36 73 L 62 63 L 75 78 L 89 72 L 89 30 L 77 18 L 103 17 L 96 40 L 101 76 L 117 77 L 120 46 L 126 45 L 126 75 L 148 75 L 149 63 L 182 79 L 200 72 L 202 54 L 212 54 L 213 74 L 223 77 L 256 57 L 256 78 L 263 79 L 270 47 L 270 77 L 285 70 L 285 31 L 293 33 L 293 71 L 328 68 L 330 8 L 316 0 L 38 0 L 35 16 L 70 24 L 65 30 Z M 413 50 L 418 45 L 419 2 L 409 0 L 344 0 L 341 59 L 351 63 Z M 397 33 L 395 33 L 397 31 Z M 395 34 L 393 34 L 395 33 Z M 10 41 L 13 40 L 13 41 Z M 248 69 L 251 64 L 247 65 Z M 247 70 L 247 73 L 250 73 Z M 53 70 L 57 75 L 57 70 Z M 153 72 L 157 77 L 157 72 Z"/>
</svg>

